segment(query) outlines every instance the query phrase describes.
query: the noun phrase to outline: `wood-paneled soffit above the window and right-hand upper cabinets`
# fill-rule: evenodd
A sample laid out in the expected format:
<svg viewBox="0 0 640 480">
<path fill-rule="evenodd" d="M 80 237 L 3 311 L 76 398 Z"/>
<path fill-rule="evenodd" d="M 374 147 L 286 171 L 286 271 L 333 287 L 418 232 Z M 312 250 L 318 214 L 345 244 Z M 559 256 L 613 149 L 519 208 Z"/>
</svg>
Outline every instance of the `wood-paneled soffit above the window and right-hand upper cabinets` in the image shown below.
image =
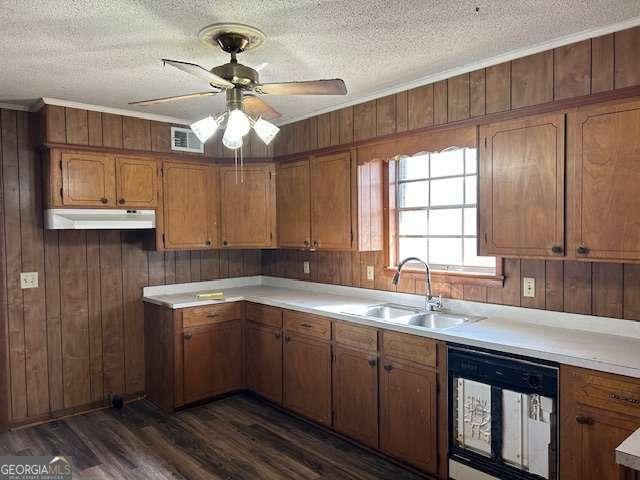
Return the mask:
<svg viewBox="0 0 640 480">
<path fill-rule="evenodd" d="M 640 27 L 284 125 L 276 157 L 640 85 Z"/>
</svg>

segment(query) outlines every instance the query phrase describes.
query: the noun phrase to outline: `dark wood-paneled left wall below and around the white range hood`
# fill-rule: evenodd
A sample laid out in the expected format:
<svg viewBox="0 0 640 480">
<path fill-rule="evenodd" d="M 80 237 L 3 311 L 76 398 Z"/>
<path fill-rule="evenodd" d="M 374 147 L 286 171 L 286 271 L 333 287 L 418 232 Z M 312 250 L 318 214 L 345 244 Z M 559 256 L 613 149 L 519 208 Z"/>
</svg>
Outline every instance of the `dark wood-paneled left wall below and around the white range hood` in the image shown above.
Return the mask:
<svg viewBox="0 0 640 480">
<path fill-rule="evenodd" d="M 84 124 L 74 119 L 77 112 L 62 112 L 67 126 Z M 105 128 L 104 119 L 101 134 L 99 122 L 89 124 L 96 141 L 161 148 L 141 133 L 146 127 L 131 127 L 137 119 L 120 119 L 122 134 Z M 0 110 L 0 319 L 7 325 L 0 321 L 0 344 L 8 365 L 0 368 L 0 408 L 12 423 L 144 390 L 142 287 L 256 275 L 261 268 L 259 250 L 151 252 L 143 250 L 141 232 L 44 230 L 39 125 L 37 114 Z M 79 130 L 67 127 L 65 135 L 76 143 L 89 138 Z M 38 288 L 21 290 L 20 272 L 38 272 Z M 3 375 L 8 389 L 1 388 Z"/>
</svg>

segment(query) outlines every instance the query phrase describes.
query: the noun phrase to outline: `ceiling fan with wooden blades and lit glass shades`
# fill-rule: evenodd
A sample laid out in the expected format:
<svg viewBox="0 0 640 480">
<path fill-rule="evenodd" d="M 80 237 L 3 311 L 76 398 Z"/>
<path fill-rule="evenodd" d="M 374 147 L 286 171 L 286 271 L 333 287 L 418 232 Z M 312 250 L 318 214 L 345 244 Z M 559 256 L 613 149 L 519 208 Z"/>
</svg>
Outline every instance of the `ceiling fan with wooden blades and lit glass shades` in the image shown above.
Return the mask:
<svg viewBox="0 0 640 480">
<path fill-rule="evenodd" d="M 163 59 L 165 65 L 171 65 L 206 81 L 213 90 L 190 93 L 175 97 L 155 98 L 131 102 L 129 105 L 148 106 L 165 102 L 208 97 L 221 92 L 226 93 L 226 109 L 214 116 L 209 115 L 191 125 L 191 129 L 206 142 L 225 125 L 223 144 L 236 150 L 242 147 L 242 137 L 251 128 L 269 144 L 277 135 L 279 128 L 268 120 L 278 118 L 278 113 L 260 96 L 263 95 L 346 95 L 347 88 L 341 79 L 311 80 L 303 82 L 260 83 L 258 71 L 238 62 L 237 55 L 260 46 L 265 39 L 264 33 L 254 27 L 242 24 L 214 24 L 205 27 L 198 34 L 207 45 L 218 45 L 231 55 L 231 60 L 223 65 L 207 70 L 200 65 L 177 60 Z"/>
</svg>

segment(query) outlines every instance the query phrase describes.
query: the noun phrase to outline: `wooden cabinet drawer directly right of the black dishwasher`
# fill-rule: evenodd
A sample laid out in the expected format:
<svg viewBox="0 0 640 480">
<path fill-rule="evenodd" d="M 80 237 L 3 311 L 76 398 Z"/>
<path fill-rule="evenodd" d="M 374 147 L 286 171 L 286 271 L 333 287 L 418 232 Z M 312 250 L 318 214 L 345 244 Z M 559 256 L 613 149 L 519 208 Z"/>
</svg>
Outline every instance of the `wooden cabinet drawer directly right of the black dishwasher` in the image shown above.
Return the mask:
<svg viewBox="0 0 640 480">
<path fill-rule="evenodd" d="M 640 417 L 640 381 L 579 368 L 567 370 L 577 402 Z"/>
</svg>

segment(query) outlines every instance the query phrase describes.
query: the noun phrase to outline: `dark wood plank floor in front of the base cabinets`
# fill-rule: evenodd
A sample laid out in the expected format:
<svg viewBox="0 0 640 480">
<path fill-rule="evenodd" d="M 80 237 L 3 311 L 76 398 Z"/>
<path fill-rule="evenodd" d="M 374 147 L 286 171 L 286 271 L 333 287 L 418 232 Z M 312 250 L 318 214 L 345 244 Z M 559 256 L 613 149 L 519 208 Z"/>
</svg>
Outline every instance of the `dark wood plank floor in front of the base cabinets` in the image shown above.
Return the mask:
<svg viewBox="0 0 640 480">
<path fill-rule="evenodd" d="M 0 434 L 0 455 L 72 458 L 73 478 L 422 478 L 252 397 L 167 415 L 146 401 Z"/>
</svg>

